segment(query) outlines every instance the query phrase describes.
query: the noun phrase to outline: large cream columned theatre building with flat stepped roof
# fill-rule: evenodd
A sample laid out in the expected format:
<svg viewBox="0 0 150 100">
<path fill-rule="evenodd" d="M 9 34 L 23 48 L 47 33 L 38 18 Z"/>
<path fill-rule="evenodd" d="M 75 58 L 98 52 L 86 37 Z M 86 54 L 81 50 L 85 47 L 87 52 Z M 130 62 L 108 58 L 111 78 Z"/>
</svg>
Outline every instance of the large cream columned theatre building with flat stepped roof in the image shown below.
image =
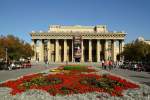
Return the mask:
<svg viewBox="0 0 150 100">
<path fill-rule="evenodd" d="M 33 61 L 100 62 L 117 60 L 126 34 L 108 31 L 105 25 L 50 25 L 47 32 L 32 31 L 30 36 Z"/>
</svg>

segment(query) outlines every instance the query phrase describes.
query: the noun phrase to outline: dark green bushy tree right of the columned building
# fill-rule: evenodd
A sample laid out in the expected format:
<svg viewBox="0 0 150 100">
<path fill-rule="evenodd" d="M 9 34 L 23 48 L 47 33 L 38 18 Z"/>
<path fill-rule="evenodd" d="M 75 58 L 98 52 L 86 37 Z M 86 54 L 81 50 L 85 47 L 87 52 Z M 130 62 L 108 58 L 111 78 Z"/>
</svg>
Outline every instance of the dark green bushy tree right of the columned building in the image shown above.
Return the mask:
<svg viewBox="0 0 150 100">
<path fill-rule="evenodd" d="M 128 43 L 124 47 L 122 55 L 128 61 L 145 61 L 150 54 L 150 45 L 143 41 Z"/>
</svg>

